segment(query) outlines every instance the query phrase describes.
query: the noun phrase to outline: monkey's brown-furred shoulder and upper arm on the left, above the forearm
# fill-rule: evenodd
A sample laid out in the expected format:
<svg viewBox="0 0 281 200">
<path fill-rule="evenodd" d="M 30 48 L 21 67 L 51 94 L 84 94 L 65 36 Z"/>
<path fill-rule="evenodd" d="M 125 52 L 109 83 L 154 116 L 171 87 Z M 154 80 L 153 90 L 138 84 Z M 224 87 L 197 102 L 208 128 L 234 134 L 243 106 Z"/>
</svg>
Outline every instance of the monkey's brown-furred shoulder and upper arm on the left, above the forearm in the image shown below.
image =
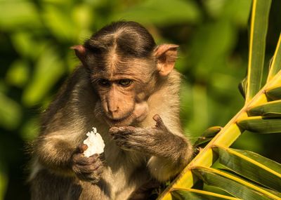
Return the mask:
<svg viewBox="0 0 281 200">
<path fill-rule="evenodd" d="M 77 67 L 41 114 L 41 127 L 85 126 L 84 116 L 94 117 L 96 94 L 84 67 Z M 53 128 L 52 128 L 53 129 Z"/>
</svg>

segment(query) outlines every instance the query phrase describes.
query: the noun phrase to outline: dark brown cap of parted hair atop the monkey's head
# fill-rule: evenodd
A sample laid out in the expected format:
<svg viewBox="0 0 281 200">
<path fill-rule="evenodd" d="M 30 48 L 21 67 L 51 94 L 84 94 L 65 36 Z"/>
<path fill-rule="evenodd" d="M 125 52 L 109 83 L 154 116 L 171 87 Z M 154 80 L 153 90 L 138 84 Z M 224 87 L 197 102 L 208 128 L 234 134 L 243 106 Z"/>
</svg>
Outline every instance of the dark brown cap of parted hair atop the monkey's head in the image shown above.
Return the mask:
<svg viewBox="0 0 281 200">
<path fill-rule="evenodd" d="M 152 35 L 137 22 L 112 22 L 93 34 L 84 46 L 96 55 L 116 53 L 131 58 L 148 58 L 156 47 Z"/>
</svg>

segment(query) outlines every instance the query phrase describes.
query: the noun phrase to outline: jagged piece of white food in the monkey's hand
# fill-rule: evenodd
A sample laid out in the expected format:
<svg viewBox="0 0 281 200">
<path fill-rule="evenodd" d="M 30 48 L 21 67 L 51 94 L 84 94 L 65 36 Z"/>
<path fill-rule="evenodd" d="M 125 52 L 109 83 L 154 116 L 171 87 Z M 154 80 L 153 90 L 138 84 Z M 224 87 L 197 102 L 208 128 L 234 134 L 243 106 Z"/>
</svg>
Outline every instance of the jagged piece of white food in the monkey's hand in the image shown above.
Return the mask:
<svg viewBox="0 0 281 200">
<path fill-rule="evenodd" d="M 103 138 L 101 138 L 96 128 L 93 127 L 93 131 L 86 133 L 86 135 L 88 138 L 83 143 L 88 146 L 88 149 L 84 151 L 84 156 L 89 157 L 93 154 L 103 153 L 105 142 L 103 142 Z"/>
</svg>

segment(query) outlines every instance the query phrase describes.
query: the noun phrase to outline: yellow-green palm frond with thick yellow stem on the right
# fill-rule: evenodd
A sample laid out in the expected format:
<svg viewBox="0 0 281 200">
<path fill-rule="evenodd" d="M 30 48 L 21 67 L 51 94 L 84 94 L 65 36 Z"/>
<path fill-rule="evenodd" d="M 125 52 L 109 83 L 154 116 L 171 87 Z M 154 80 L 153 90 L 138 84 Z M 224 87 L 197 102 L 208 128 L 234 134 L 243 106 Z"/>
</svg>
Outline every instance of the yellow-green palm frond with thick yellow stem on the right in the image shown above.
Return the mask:
<svg viewBox="0 0 281 200">
<path fill-rule="evenodd" d="M 248 73 L 240 87 L 244 107 L 223 128 L 212 127 L 203 133 L 195 146 L 207 145 L 159 199 L 281 199 L 280 164 L 254 152 L 229 148 L 244 131 L 281 133 L 281 35 L 261 88 L 270 4 L 269 0 L 253 0 Z M 229 171 L 216 169 L 217 159 Z M 198 180 L 229 196 L 192 188 Z"/>
</svg>

